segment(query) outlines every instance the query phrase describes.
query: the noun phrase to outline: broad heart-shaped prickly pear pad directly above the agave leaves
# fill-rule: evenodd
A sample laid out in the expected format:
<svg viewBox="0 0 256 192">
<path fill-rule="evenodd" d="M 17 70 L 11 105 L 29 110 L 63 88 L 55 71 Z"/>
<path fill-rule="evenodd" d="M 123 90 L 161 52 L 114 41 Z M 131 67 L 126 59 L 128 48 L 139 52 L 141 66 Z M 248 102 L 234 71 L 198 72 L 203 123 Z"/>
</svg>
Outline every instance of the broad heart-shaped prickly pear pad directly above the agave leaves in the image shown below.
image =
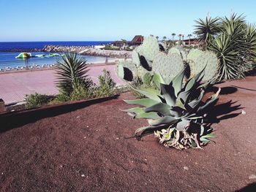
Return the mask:
<svg viewBox="0 0 256 192">
<path fill-rule="evenodd" d="M 152 66 L 152 71 L 162 74 L 166 82 L 170 82 L 182 69 L 184 69 L 184 64 L 181 56 L 178 54 L 168 56 L 165 53 L 158 53 L 154 58 Z"/>
</svg>

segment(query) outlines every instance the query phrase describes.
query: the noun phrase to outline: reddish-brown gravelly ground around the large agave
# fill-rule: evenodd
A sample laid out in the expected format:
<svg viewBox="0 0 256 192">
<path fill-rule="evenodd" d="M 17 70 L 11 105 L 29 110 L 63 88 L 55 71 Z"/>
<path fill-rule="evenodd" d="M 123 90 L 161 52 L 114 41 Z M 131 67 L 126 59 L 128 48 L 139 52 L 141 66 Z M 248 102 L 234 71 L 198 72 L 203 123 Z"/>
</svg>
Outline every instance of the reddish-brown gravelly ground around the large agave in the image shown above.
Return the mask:
<svg viewBox="0 0 256 192">
<path fill-rule="evenodd" d="M 255 82 L 217 85 L 229 113 L 204 150 L 125 139 L 147 124 L 119 110 L 131 93 L 0 115 L 1 191 L 256 191 Z"/>
</svg>

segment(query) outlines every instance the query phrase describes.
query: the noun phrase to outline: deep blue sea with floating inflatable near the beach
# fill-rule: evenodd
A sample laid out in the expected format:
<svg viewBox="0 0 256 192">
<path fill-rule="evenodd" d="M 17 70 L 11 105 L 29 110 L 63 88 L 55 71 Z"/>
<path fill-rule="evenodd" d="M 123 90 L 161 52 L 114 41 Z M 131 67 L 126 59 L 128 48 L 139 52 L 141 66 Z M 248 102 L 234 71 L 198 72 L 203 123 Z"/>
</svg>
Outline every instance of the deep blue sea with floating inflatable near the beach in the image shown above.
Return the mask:
<svg viewBox="0 0 256 192">
<path fill-rule="evenodd" d="M 91 46 L 102 45 L 110 42 L 0 42 L 0 69 L 16 69 L 25 66 L 50 66 L 56 64 L 56 61 L 61 57 L 53 58 L 37 58 L 31 57 L 26 61 L 20 58 L 15 58 L 19 52 L 4 52 L 3 50 L 25 50 L 25 49 L 42 49 L 45 45 L 67 45 L 67 46 Z M 48 55 L 43 52 L 29 52 L 34 55 Z M 105 57 L 79 55 L 86 59 L 88 63 L 105 61 Z"/>
</svg>

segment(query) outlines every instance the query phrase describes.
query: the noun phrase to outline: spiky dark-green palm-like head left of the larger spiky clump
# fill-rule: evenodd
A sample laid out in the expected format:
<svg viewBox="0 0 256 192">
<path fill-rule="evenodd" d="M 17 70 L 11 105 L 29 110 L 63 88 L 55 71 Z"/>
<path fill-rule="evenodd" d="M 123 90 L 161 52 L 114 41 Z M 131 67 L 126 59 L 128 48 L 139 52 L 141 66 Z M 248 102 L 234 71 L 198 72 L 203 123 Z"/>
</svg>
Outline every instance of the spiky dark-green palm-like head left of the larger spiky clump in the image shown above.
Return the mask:
<svg viewBox="0 0 256 192">
<path fill-rule="evenodd" d="M 219 18 L 208 18 L 206 20 L 195 20 L 195 34 L 199 42 L 202 42 L 204 48 L 208 48 L 209 42 L 220 32 Z"/>
</svg>

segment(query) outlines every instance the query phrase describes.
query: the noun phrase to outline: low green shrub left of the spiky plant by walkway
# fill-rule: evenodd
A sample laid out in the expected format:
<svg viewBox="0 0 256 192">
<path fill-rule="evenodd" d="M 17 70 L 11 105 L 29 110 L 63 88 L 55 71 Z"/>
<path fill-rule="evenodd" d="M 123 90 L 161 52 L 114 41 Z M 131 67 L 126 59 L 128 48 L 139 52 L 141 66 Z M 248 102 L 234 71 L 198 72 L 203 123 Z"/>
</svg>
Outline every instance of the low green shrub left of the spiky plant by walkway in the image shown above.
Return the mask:
<svg viewBox="0 0 256 192">
<path fill-rule="evenodd" d="M 25 107 L 26 109 L 34 108 L 34 107 L 40 107 L 45 104 L 49 104 L 50 101 L 53 100 L 53 96 L 48 96 L 45 94 L 40 93 L 34 93 L 30 95 L 26 95 L 25 97 Z"/>
</svg>

